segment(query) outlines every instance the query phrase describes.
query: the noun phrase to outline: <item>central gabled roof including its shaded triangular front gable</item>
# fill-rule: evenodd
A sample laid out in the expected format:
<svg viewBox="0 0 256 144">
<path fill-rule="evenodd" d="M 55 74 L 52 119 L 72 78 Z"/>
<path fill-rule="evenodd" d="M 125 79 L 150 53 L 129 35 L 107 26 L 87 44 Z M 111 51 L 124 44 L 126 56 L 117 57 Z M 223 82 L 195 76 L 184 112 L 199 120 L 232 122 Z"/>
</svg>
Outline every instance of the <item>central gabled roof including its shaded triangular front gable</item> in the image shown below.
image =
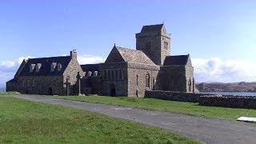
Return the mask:
<svg viewBox="0 0 256 144">
<path fill-rule="evenodd" d="M 120 55 L 121 58 L 111 58 L 114 55 Z M 114 46 L 113 50 L 111 50 L 109 57 L 106 59 L 106 63 L 109 62 L 134 62 L 155 65 L 154 62 L 152 62 L 150 58 L 142 52 L 142 50 L 131 50 L 120 46 Z"/>
</svg>

